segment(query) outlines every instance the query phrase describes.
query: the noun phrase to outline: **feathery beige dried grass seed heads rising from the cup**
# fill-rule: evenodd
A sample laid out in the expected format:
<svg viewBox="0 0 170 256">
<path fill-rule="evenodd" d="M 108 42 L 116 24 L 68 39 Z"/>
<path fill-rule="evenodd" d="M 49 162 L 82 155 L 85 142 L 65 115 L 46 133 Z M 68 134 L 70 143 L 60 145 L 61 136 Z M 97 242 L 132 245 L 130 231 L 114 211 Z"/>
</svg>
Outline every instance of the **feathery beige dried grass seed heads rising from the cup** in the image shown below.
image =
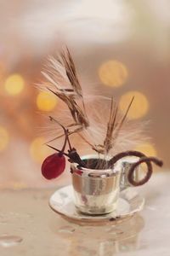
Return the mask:
<svg viewBox="0 0 170 256">
<path fill-rule="evenodd" d="M 95 121 L 94 111 L 96 111 L 97 115 L 101 113 L 95 102 L 92 102 L 90 111 L 87 113 L 85 108 L 87 107 L 86 98 L 82 94 L 82 86 L 77 76 L 77 70 L 67 47 L 61 50 L 56 59 L 54 57 L 49 58 L 48 66 L 42 74 L 48 80 L 47 84 L 42 84 L 42 89 L 45 88 L 59 97 L 62 102 L 65 102 L 69 110 L 72 121 L 65 126 L 68 130 L 68 135 L 76 133 L 89 147 L 99 154 L 112 154 L 117 147 L 117 142 L 120 143 L 121 138 L 123 140 L 123 137 L 128 135 L 128 131 L 123 128 L 123 125 L 126 123 L 127 113 L 132 106 L 133 99 L 129 102 L 125 114 L 120 117 L 118 104 L 111 97 L 108 120 L 106 122 L 103 120 Z M 108 113 L 108 110 L 106 112 Z M 54 117 L 50 116 L 50 120 L 54 122 Z M 129 134 L 132 137 L 129 141 L 133 142 L 133 132 L 131 131 Z M 64 135 L 62 133 L 47 143 L 53 142 Z M 128 144 L 130 143 L 128 142 Z"/>
</svg>

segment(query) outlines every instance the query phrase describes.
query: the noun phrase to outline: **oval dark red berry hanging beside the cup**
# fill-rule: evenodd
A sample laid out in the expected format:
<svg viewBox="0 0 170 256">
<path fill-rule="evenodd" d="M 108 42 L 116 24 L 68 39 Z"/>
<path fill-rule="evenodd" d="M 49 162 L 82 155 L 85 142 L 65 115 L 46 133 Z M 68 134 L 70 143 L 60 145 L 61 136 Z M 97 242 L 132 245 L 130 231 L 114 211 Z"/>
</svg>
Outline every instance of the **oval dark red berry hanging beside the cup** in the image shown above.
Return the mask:
<svg viewBox="0 0 170 256">
<path fill-rule="evenodd" d="M 51 154 L 42 163 L 42 176 L 47 179 L 59 177 L 65 171 L 65 156 Z"/>
</svg>

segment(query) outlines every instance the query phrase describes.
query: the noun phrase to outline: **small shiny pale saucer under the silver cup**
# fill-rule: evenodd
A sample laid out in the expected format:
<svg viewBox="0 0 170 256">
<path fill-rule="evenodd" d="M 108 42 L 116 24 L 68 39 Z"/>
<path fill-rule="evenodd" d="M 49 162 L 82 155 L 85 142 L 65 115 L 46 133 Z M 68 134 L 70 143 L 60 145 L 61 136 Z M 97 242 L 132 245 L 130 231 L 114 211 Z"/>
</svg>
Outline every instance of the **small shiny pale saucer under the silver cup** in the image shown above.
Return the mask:
<svg viewBox="0 0 170 256">
<path fill-rule="evenodd" d="M 128 188 L 121 192 L 116 211 L 105 215 L 90 216 L 77 211 L 73 203 L 73 196 L 71 185 L 58 189 L 50 197 L 49 206 L 64 218 L 88 223 L 111 222 L 127 218 L 135 212 L 141 211 L 144 207 L 144 198 L 138 195 L 133 188 Z"/>
</svg>

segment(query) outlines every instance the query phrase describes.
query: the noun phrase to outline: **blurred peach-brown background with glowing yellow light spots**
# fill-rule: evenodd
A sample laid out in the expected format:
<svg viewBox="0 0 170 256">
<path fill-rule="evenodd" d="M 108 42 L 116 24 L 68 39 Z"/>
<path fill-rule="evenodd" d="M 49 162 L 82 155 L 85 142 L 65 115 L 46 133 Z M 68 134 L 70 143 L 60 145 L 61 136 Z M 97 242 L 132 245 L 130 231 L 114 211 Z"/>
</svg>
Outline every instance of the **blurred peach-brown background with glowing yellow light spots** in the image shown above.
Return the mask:
<svg viewBox="0 0 170 256">
<path fill-rule="evenodd" d="M 150 120 L 139 150 L 170 166 L 170 1 L 0 0 L 0 188 L 46 187 L 40 172 L 43 114 L 59 104 L 39 92 L 48 55 L 67 44 L 83 86 L 115 96 L 129 117 Z M 162 171 L 160 171 L 162 172 Z"/>
</svg>

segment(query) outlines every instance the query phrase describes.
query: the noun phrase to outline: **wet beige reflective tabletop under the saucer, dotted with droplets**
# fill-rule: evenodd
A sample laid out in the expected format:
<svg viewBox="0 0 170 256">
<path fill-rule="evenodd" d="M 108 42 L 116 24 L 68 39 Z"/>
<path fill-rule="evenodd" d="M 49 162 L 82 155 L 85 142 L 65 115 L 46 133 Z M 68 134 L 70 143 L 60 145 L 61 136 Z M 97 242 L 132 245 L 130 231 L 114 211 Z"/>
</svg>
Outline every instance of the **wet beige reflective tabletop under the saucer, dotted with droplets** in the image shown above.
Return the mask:
<svg viewBox="0 0 170 256">
<path fill-rule="evenodd" d="M 0 255 L 170 255 L 170 175 L 155 173 L 139 189 L 144 210 L 121 223 L 74 224 L 48 207 L 57 189 L 2 189 Z"/>
</svg>

